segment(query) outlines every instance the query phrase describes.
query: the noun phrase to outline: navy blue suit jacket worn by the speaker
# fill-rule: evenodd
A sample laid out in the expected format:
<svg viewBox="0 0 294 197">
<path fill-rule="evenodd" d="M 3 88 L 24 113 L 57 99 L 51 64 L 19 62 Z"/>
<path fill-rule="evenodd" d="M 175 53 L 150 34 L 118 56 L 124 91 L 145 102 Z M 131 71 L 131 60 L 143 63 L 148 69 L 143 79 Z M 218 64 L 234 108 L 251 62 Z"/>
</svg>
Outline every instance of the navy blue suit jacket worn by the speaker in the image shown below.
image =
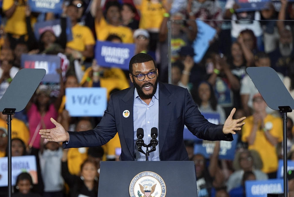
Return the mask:
<svg viewBox="0 0 294 197">
<path fill-rule="evenodd" d="M 183 140 L 184 125 L 194 135 L 204 140 L 233 140 L 232 134 L 223 134 L 223 125 L 212 124 L 201 115 L 187 89 L 161 82 L 158 82 L 158 85 L 157 148 L 159 148 L 160 160 L 188 160 Z M 112 94 L 102 120 L 96 128 L 82 132 L 69 132 L 69 143 L 63 143 L 63 147 L 101 146 L 118 132 L 121 160 L 134 160 L 133 102 L 134 87 Z M 125 110 L 130 111 L 127 118 L 123 117 Z"/>
</svg>

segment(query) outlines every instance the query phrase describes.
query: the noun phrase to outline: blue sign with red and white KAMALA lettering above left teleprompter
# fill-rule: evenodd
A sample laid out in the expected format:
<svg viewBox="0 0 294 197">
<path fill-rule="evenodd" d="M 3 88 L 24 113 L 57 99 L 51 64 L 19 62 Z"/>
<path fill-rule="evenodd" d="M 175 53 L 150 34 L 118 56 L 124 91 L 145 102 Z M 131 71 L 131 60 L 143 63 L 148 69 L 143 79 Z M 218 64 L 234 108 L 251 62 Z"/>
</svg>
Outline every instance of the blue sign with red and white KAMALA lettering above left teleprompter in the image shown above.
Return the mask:
<svg viewBox="0 0 294 197">
<path fill-rule="evenodd" d="M 56 69 L 60 68 L 61 58 L 57 55 L 21 55 L 21 67 L 22 68 L 44 68 L 46 75 L 42 82 L 59 83 L 60 74 Z"/>
</svg>

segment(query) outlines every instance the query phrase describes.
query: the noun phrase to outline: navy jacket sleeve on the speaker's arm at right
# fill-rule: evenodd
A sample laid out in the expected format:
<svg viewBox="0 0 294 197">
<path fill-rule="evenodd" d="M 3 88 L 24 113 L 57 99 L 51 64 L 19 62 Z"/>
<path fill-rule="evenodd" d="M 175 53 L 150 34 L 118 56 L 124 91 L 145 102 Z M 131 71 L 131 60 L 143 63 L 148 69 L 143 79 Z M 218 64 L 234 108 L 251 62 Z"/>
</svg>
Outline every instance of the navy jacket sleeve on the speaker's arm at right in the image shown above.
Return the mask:
<svg viewBox="0 0 294 197">
<path fill-rule="evenodd" d="M 215 125 L 204 118 L 187 89 L 185 89 L 184 114 L 185 125 L 198 138 L 211 141 L 233 140 L 232 134 L 223 134 L 223 125 Z"/>
</svg>

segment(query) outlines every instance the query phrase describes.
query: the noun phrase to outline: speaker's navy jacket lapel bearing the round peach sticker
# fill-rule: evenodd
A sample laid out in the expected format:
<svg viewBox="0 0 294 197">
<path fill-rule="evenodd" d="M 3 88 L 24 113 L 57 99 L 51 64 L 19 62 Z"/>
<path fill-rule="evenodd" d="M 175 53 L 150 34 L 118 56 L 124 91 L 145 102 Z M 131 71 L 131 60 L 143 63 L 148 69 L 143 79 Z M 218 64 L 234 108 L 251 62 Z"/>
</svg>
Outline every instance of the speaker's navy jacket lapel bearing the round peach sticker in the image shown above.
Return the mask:
<svg viewBox="0 0 294 197">
<path fill-rule="evenodd" d="M 135 90 L 135 87 L 131 87 L 128 93 L 120 100 L 120 105 L 119 105 L 121 120 L 122 120 L 121 123 L 123 128 L 123 135 L 125 137 L 126 145 L 128 147 L 128 150 L 130 151 L 130 155 L 132 156 L 133 160 L 135 158 L 134 118 L 133 118 L 134 90 Z M 123 112 L 125 110 L 128 110 L 130 112 L 130 115 L 127 118 L 123 117 Z"/>
</svg>

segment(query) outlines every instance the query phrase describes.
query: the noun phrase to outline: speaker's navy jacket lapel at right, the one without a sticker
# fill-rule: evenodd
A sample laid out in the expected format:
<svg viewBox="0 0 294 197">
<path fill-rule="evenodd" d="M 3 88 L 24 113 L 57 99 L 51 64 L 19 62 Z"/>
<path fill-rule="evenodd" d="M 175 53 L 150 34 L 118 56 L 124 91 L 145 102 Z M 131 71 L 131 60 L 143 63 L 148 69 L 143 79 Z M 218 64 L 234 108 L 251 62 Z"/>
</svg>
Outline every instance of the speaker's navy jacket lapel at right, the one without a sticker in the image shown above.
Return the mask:
<svg viewBox="0 0 294 197">
<path fill-rule="evenodd" d="M 168 125 L 171 119 L 172 113 L 172 96 L 171 93 L 166 89 L 165 85 L 159 83 L 159 113 L 158 113 L 158 144 L 159 144 L 159 155 L 161 153 L 166 135 L 168 132 Z"/>
</svg>

